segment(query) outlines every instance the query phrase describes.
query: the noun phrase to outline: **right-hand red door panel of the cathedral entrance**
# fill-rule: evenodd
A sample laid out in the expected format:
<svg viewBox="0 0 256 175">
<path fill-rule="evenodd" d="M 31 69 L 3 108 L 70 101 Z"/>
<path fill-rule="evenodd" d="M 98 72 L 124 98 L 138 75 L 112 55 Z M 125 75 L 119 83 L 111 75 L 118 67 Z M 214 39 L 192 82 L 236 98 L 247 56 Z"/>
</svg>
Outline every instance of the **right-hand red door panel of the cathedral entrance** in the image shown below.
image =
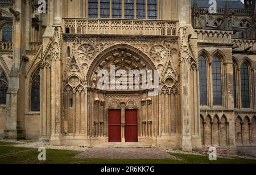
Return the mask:
<svg viewBox="0 0 256 175">
<path fill-rule="evenodd" d="M 125 110 L 125 142 L 138 142 L 137 109 Z"/>
</svg>

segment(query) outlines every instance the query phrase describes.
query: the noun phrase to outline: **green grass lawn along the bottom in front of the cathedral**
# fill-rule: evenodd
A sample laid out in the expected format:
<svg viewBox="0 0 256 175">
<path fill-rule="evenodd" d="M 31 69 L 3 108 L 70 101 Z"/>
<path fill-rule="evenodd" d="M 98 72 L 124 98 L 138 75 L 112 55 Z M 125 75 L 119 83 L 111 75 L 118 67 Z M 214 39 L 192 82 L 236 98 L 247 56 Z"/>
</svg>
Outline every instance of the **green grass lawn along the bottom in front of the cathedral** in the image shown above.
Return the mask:
<svg viewBox="0 0 256 175">
<path fill-rule="evenodd" d="M 12 147 L 15 143 L 0 142 L 0 163 L 78 163 L 78 164 L 187 164 L 187 163 L 256 163 L 256 160 L 249 159 L 217 159 L 209 161 L 207 156 L 184 155 L 171 153 L 181 160 L 172 159 L 75 159 L 73 158 L 81 151 L 67 150 L 46 150 L 46 161 L 38 160 L 38 150 L 33 148 Z"/>
</svg>

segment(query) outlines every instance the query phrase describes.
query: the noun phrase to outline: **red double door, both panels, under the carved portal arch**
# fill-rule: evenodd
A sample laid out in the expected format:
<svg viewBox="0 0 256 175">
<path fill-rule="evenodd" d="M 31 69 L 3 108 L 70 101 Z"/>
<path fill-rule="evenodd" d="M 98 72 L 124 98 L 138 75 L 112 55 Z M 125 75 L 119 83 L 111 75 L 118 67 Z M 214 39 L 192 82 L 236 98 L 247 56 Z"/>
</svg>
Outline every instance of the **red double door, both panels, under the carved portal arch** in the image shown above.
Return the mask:
<svg viewBox="0 0 256 175">
<path fill-rule="evenodd" d="M 109 109 L 109 142 L 121 142 L 121 109 Z M 137 109 L 125 110 L 125 142 L 138 142 Z"/>
</svg>

